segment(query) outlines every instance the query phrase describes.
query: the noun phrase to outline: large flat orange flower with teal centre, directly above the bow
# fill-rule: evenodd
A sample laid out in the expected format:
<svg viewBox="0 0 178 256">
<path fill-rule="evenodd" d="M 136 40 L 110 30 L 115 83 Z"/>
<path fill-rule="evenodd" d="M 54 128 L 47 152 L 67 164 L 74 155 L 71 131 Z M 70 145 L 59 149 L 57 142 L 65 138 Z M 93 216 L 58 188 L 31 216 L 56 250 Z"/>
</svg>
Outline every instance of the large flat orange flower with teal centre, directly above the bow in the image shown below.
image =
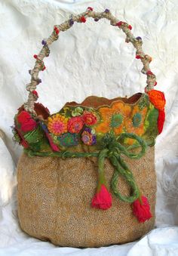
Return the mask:
<svg viewBox="0 0 178 256">
<path fill-rule="evenodd" d="M 113 130 L 115 134 L 121 134 L 124 128 L 124 120 L 130 116 L 131 107 L 121 101 L 98 109 L 102 121 L 95 127 L 95 131 L 106 133 Z"/>
</svg>

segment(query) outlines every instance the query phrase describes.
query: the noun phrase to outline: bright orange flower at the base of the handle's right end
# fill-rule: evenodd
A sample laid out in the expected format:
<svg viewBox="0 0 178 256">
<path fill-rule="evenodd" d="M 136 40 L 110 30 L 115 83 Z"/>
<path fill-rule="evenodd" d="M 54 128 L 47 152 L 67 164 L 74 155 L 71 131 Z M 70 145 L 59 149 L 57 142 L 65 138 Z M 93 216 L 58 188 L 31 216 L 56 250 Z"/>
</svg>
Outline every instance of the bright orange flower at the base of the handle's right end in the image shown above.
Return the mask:
<svg viewBox="0 0 178 256">
<path fill-rule="evenodd" d="M 148 92 L 149 100 L 155 106 L 156 109 L 164 110 L 166 103 L 164 93 L 162 91 L 152 90 Z"/>
</svg>

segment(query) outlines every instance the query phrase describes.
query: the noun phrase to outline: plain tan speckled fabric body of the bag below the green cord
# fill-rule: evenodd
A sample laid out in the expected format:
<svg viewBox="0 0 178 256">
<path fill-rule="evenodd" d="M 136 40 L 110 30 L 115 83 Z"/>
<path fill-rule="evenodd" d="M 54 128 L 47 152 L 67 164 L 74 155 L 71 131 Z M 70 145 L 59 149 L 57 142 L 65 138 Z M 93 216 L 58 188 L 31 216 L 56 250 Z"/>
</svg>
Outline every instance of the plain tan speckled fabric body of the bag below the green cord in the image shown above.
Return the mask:
<svg viewBox="0 0 178 256">
<path fill-rule="evenodd" d="M 138 160 L 123 156 L 151 206 L 153 217 L 140 224 L 130 204 L 115 196 L 112 208 L 91 208 L 97 187 L 97 158 L 29 158 L 23 153 L 17 167 L 21 228 L 30 236 L 71 247 L 100 247 L 139 239 L 155 224 L 154 156 L 154 147 Z M 105 173 L 109 185 L 113 167 L 107 159 Z M 118 189 L 123 194 L 130 191 L 121 177 Z"/>
</svg>

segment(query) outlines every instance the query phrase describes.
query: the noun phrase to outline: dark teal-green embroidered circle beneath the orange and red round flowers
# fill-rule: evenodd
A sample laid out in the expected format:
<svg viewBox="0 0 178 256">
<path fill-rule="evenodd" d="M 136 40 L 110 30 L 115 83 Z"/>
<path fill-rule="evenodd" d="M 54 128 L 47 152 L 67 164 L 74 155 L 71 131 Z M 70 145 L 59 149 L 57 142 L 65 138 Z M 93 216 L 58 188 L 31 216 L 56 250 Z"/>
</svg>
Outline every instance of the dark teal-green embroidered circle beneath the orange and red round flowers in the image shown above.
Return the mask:
<svg viewBox="0 0 178 256">
<path fill-rule="evenodd" d="M 70 147 L 78 145 L 78 136 L 77 134 L 70 134 L 67 132 L 66 134 L 62 134 L 57 137 L 57 140 L 60 141 L 60 145 L 63 147 Z"/>
</svg>

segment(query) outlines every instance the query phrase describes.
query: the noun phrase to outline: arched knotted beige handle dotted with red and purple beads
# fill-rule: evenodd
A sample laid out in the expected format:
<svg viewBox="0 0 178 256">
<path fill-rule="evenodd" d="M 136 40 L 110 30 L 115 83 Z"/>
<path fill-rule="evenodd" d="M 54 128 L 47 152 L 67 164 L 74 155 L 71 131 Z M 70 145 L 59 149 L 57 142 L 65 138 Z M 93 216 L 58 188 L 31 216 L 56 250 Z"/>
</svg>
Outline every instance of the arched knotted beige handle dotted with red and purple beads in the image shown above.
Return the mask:
<svg viewBox="0 0 178 256">
<path fill-rule="evenodd" d="M 48 57 L 50 54 L 50 49 L 48 45 L 51 45 L 52 42 L 58 39 L 60 31 L 66 31 L 67 29 L 71 28 L 74 22 L 85 23 L 87 17 L 92 17 L 95 21 L 106 18 L 107 20 L 110 20 L 112 26 L 118 26 L 119 29 L 122 29 L 122 31 L 126 34 L 125 42 L 132 43 L 134 48 L 137 49 L 136 58 L 140 59 L 143 63 L 143 69 L 141 70 L 141 72 L 143 72 L 143 74 L 146 74 L 147 76 L 147 85 L 145 91 L 148 92 L 153 90 L 154 86 L 157 84 L 155 74 L 153 74 L 149 68 L 149 63 L 152 61 L 152 57 L 144 54 L 142 49 L 142 39 L 140 38 L 140 36 L 138 36 L 137 38 L 133 36 L 130 31 L 132 29 L 132 26 L 116 19 L 108 9 L 103 12 L 95 12 L 93 11 L 93 8 L 88 7 L 87 11 L 85 11 L 84 13 L 78 14 L 76 16 L 71 16 L 70 19 L 66 20 L 64 23 L 54 26 L 54 31 L 52 32 L 50 37 L 48 39 L 42 40 L 41 43 L 43 45 L 43 48 L 41 49 L 39 54 L 34 55 L 36 59 L 35 66 L 32 70 L 29 70 L 29 74 L 32 76 L 31 82 L 26 85 L 26 90 L 29 91 L 29 97 L 28 101 L 24 103 L 24 109 L 26 109 L 26 111 L 28 111 L 29 113 L 32 113 L 32 115 L 36 116 L 34 104 L 35 101 L 38 99 L 38 93 L 37 91 L 35 91 L 35 89 L 36 86 L 41 83 L 41 79 L 38 78 L 38 73 L 45 69 L 43 59 L 44 57 Z"/>
</svg>

